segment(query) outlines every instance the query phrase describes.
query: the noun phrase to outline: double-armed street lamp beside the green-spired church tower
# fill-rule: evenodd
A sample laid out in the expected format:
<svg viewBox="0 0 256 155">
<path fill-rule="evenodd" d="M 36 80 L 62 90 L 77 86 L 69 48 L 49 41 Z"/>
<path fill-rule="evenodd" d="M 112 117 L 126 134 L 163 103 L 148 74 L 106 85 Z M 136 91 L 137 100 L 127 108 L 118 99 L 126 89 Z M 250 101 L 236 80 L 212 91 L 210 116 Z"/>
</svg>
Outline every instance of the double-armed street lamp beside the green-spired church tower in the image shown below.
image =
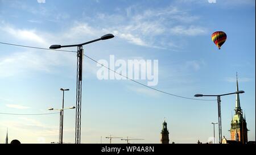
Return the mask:
<svg viewBox="0 0 256 155">
<path fill-rule="evenodd" d="M 242 94 L 245 93 L 245 91 L 236 91 L 235 93 L 228 93 L 228 94 L 222 94 L 222 95 L 203 95 L 203 94 L 196 94 L 194 97 L 217 97 L 217 103 L 218 103 L 218 140 L 219 143 L 221 143 L 222 133 L 221 133 L 221 96 L 225 95 L 231 95 L 231 94 Z"/>
</svg>

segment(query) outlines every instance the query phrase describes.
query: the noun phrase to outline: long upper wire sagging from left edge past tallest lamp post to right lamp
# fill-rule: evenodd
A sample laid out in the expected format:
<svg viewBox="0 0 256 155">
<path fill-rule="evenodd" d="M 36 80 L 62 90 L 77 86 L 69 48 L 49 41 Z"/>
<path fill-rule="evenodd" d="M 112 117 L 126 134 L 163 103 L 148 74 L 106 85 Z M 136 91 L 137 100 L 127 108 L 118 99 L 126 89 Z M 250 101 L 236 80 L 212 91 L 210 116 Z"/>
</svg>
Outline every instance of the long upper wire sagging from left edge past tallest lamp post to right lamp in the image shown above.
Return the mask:
<svg viewBox="0 0 256 155">
<path fill-rule="evenodd" d="M 31 47 L 31 46 L 26 46 L 26 45 L 10 44 L 10 43 L 3 43 L 3 42 L 0 42 L 0 44 L 14 45 L 14 46 L 26 47 L 26 48 L 43 49 L 43 50 L 51 50 L 51 51 L 75 52 L 75 53 L 76 53 L 76 51 L 67 51 L 67 50 L 61 50 L 61 49 L 39 48 L 39 47 Z M 91 57 L 89 57 L 89 56 L 86 56 L 86 55 L 84 55 L 84 56 L 87 57 L 87 58 L 89 58 L 90 60 L 96 62 L 97 64 L 100 64 L 98 61 L 94 60 L 93 58 L 91 58 Z M 102 64 L 100 64 L 100 65 L 101 65 L 101 66 L 104 66 L 104 65 L 102 65 Z M 107 69 L 109 69 L 109 70 L 111 70 L 111 71 L 114 72 L 114 73 L 117 73 L 117 72 L 115 72 L 115 70 L 112 70 L 112 69 L 110 69 L 110 68 L 107 67 L 107 66 L 104 66 L 104 67 L 107 68 Z M 172 96 L 174 96 L 174 97 L 179 97 L 179 98 L 184 98 L 184 99 L 192 99 L 192 100 L 216 100 L 216 99 L 195 99 L 195 98 L 182 97 L 182 96 L 180 96 L 180 95 L 171 94 L 171 93 L 168 93 L 168 92 L 166 92 L 166 91 L 162 91 L 162 90 L 155 89 L 155 88 L 153 88 L 153 87 L 144 85 L 143 83 L 138 82 L 138 81 L 135 81 L 134 79 L 131 79 L 131 78 L 129 78 L 129 77 L 123 76 L 123 75 L 120 74 L 120 73 L 117 73 L 117 74 L 119 74 L 119 75 L 122 76 L 122 77 L 125 77 L 126 79 L 129 79 L 130 81 L 133 81 L 133 82 L 135 82 L 135 83 L 138 83 L 139 85 L 142 85 L 142 86 L 144 86 L 144 87 L 147 87 L 147 88 L 152 89 L 152 90 L 155 90 L 155 91 L 158 91 L 158 92 L 160 92 L 160 93 L 164 93 L 164 94 L 167 94 L 167 95 L 172 95 Z"/>
</svg>

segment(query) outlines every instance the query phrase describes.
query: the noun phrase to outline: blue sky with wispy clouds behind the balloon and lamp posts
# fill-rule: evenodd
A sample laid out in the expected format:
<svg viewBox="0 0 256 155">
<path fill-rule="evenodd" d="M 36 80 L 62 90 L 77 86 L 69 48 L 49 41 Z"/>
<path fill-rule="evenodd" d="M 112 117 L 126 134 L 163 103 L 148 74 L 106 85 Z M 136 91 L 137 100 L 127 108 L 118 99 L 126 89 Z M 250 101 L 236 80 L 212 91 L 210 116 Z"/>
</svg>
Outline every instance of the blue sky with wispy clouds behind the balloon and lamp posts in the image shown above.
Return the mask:
<svg viewBox="0 0 256 155">
<path fill-rule="evenodd" d="M 218 50 L 211 40 L 224 31 Z M 30 1 L 0 0 L 0 42 L 48 48 L 83 43 L 113 33 L 110 40 L 84 46 L 95 60 L 158 60 L 155 89 L 194 98 L 197 93 L 236 91 L 255 141 L 255 1 Z M 66 48 L 76 51 L 76 48 Z M 81 143 L 109 143 L 104 137 L 135 137 L 131 143 L 160 143 L 164 118 L 170 141 L 206 143 L 217 122 L 217 102 L 161 94 L 128 80 L 99 80 L 96 63 L 84 58 Z M 144 84 L 146 80 L 139 80 Z M 76 53 L 0 45 L 0 112 L 48 113 L 76 104 Z M 202 98 L 203 99 L 203 98 Z M 214 99 L 214 98 L 204 98 Z M 230 139 L 235 95 L 222 97 L 222 135 Z M 59 115 L 0 115 L 0 143 L 58 140 Z M 217 130 L 216 130 L 217 135 Z M 75 110 L 64 112 L 64 142 L 75 141 Z M 125 143 L 113 140 L 113 143 Z"/>
</svg>

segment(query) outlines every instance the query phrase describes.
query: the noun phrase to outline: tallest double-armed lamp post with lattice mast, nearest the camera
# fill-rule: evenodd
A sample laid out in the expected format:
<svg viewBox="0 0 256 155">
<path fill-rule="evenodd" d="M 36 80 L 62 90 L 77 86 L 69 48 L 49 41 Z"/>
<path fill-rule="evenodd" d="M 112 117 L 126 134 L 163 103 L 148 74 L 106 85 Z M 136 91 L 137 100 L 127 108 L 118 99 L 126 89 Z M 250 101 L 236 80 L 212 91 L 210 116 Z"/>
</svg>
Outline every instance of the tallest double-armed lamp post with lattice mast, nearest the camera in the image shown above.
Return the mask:
<svg viewBox="0 0 256 155">
<path fill-rule="evenodd" d="M 82 57 L 84 55 L 84 49 L 82 45 L 90 44 L 99 40 L 106 40 L 113 38 L 114 35 L 106 34 L 98 39 L 88 41 L 82 44 L 75 45 L 51 45 L 50 49 L 58 49 L 64 47 L 77 47 L 77 81 L 76 81 L 76 131 L 75 131 L 75 143 L 80 144 L 81 139 L 81 100 L 82 100 Z"/>
</svg>

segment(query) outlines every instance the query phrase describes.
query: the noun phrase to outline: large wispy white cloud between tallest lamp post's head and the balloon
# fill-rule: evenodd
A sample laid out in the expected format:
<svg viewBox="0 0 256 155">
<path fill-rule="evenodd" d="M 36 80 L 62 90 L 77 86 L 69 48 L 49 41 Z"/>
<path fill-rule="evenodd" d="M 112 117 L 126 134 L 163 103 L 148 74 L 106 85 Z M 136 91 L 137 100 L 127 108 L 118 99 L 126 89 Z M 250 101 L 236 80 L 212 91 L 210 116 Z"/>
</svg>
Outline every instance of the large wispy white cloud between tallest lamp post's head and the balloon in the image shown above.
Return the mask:
<svg viewBox="0 0 256 155">
<path fill-rule="evenodd" d="M 135 5 L 127 7 L 125 15 L 121 15 L 118 14 L 120 20 L 114 23 L 108 21 L 117 19 L 113 18 L 117 16 L 115 14 L 97 14 L 96 18 L 105 23 L 106 27 L 102 29 L 105 32 L 115 33 L 131 44 L 144 47 L 179 48 L 179 44 L 175 43 L 177 40 L 170 43 L 170 36 L 198 36 L 207 33 L 207 28 L 195 23 L 200 16 L 190 15 L 188 11 L 179 10 L 177 7 L 145 10 L 142 6 Z"/>
</svg>

